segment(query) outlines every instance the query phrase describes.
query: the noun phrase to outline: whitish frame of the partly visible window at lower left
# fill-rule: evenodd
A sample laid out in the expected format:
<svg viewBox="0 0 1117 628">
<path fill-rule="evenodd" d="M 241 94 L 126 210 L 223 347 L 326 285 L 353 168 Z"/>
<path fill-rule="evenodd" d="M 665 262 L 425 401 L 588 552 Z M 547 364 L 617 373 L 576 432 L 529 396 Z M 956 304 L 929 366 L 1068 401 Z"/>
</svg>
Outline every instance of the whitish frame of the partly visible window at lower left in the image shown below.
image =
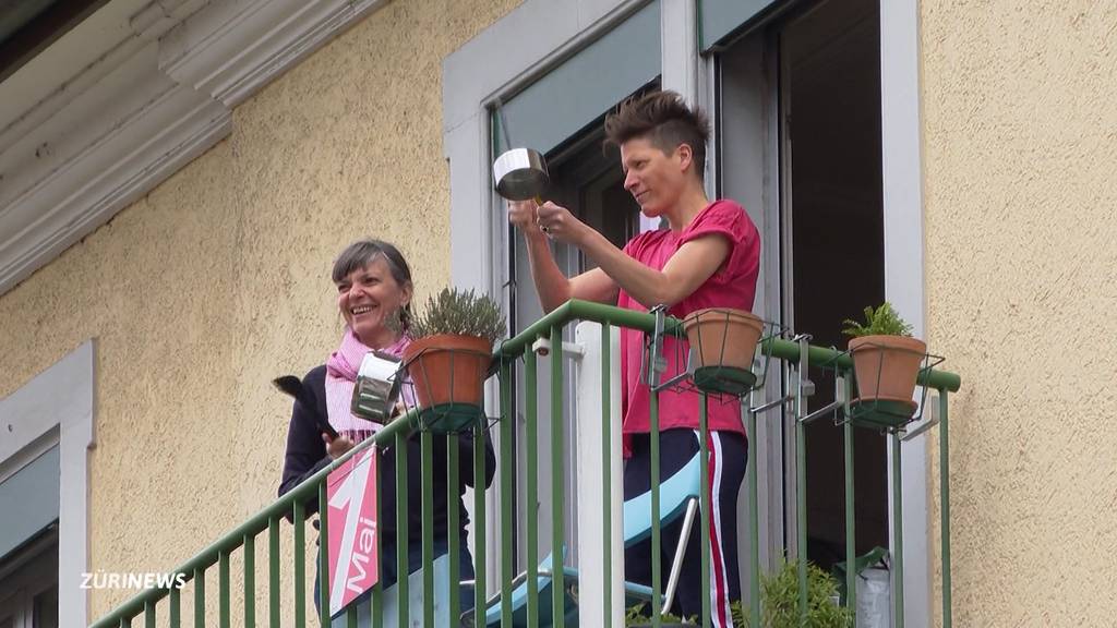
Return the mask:
<svg viewBox="0 0 1117 628">
<path fill-rule="evenodd" d="M 87 341 L 0 399 L 0 477 L 59 446 L 58 625 L 88 626 L 89 450 L 94 447 L 94 342 Z"/>
</svg>

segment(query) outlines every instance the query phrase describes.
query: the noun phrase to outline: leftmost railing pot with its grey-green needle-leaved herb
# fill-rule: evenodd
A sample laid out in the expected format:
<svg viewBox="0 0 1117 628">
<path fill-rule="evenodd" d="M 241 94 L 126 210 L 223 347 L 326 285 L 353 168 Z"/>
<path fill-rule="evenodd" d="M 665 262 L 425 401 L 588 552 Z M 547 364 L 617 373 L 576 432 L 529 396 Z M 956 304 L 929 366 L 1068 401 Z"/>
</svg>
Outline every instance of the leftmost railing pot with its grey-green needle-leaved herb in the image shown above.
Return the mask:
<svg viewBox="0 0 1117 628">
<path fill-rule="evenodd" d="M 443 288 L 428 297 L 408 326 L 412 341 L 403 351 L 419 407 L 478 416 L 493 343 L 505 330 L 500 306 L 485 294 Z"/>
</svg>

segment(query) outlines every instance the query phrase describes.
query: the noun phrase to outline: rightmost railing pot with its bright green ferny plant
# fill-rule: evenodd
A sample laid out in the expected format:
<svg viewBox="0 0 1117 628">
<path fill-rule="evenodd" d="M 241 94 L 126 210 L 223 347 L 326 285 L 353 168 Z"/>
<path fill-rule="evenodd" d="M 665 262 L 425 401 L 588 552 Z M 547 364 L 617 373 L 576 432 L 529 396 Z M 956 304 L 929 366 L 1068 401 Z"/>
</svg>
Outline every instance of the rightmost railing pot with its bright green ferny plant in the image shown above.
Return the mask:
<svg viewBox="0 0 1117 628">
<path fill-rule="evenodd" d="M 847 318 L 842 333 L 850 336 L 849 352 L 857 375 L 858 401 L 878 401 L 915 411 L 911 399 L 916 375 L 927 345 L 911 337 L 906 323 L 887 301 L 865 308 L 865 323 Z"/>
</svg>

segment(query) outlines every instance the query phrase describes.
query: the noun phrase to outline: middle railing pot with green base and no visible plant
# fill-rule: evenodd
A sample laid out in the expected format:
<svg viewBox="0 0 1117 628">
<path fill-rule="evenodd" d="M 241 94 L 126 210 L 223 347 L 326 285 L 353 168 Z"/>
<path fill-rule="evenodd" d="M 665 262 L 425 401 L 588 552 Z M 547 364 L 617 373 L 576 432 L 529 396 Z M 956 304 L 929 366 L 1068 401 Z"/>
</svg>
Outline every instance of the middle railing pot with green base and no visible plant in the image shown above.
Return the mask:
<svg viewBox="0 0 1117 628">
<path fill-rule="evenodd" d="M 682 320 L 694 355 L 694 382 L 703 390 L 741 394 L 755 383 L 753 354 L 764 321 L 744 310 L 707 307 Z"/>
</svg>

